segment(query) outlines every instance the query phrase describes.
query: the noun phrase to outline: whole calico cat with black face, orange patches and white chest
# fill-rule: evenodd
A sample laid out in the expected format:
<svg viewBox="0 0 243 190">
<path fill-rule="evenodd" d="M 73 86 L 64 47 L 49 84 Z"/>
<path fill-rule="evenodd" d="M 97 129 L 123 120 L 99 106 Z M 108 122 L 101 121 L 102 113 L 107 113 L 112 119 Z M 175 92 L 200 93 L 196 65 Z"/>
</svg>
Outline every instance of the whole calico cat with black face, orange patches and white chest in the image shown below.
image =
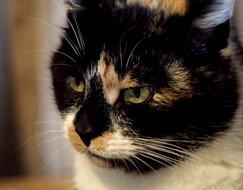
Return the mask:
<svg viewBox="0 0 243 190">
<path fill-rule="evenodd" d="M 50 69 L 77 190 L 242 190 L 233 0 L 70 0 Z"/>
</svg>

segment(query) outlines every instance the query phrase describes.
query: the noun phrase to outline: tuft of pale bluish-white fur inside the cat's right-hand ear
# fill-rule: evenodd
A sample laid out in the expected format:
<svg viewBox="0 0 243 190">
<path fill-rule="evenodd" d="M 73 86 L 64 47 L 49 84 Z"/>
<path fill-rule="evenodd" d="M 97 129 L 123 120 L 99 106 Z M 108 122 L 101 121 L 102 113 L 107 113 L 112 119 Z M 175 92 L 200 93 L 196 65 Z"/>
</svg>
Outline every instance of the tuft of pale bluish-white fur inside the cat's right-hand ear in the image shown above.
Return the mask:
<svg viewBox="0 0 243 190">
<path fill-rule="evenodd" d="M 194 24 L 202 29 L 215 27 L 229 20 L 233 14 L 235 0 L 216 0 L 209 12 L 197 19 Z"/>
</svg>

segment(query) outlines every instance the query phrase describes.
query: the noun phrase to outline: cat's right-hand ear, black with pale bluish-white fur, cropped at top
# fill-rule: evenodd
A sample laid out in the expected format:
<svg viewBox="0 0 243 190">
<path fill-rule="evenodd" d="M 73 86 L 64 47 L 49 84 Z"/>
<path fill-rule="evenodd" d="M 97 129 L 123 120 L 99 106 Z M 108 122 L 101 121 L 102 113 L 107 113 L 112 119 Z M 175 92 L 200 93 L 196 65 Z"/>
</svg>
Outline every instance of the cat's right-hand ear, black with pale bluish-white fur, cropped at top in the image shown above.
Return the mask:
<svg viewBox="0 0 243 190">
<path fill-rule="evenodd" d="M 234 0 L 190 0 L 189 17 L 192 18 L 193 40 L 210 52 L 220 51 L 228 46 L 230 19 Z"/>
</svg>

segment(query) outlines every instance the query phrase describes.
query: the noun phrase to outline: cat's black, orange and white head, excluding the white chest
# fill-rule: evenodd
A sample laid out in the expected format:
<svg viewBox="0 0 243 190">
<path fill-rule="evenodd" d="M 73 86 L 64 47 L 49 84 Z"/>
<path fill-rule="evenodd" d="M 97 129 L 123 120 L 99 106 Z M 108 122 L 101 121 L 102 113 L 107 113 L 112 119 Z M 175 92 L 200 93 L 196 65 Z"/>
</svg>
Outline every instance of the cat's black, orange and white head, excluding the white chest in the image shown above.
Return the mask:
<svg viewBox="0 0 243 190">
<path fill-rule="evenodd" d="M 228 129 L 238 96 L 225 2 L 87 0 L 68 13 L 51 70 L 80 154 L 146 172 Z"/>
</svg>

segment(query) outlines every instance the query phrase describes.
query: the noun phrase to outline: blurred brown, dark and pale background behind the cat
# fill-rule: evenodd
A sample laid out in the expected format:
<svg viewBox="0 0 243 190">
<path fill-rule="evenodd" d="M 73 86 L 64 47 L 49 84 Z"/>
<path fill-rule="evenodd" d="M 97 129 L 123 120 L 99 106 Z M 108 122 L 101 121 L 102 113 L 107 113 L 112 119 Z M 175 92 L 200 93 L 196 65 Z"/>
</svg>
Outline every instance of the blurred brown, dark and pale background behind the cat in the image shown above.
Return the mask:
<svg viewBox="0 0 243 190">
<path fill-rule="evenodd" d="M 65 24 L 61 2 L 0 0 L 0 190 L 15 184 L 9 179 L 16 177 L 72 176 L 72 149 L 61 131 L 48 70 Z M 243 33 L 242 10 L 238 0 L 236 23 Z"/>
</svg>

